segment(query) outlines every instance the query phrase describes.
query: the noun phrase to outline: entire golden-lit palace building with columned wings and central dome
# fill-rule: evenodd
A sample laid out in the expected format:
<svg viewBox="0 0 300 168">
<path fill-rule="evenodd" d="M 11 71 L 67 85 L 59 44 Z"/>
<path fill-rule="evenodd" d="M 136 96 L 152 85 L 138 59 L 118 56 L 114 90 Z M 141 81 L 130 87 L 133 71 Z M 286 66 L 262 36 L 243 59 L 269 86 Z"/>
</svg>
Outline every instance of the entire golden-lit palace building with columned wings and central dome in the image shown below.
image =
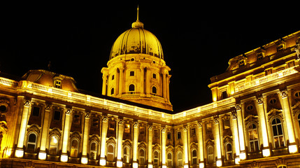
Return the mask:
<svg viewBox="0 0 300 168">
<path fill-rule="evenodd" d="M 230 59 L 212 103 L 175 113 L 162 45 L 138 19 L 113 44 L 103 95 L 1 72 L 1 167 L 299 167 L 299 38 Z"/>
</svg>

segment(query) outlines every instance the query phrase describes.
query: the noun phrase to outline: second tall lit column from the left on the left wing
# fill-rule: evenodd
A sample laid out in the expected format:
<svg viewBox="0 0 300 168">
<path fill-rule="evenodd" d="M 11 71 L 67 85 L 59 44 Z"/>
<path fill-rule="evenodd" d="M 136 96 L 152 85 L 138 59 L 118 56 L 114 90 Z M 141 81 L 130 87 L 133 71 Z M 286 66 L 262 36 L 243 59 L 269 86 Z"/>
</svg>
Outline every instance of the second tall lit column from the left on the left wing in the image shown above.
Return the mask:
<svg viewBox="0 0 300 168">
<path fill-rule="evenodd" d="M 47 153 L 46 153 L 46 143 L 48 139 L 48 129 L 49 129 L 49 123 L 50 123 L 50 104 L 45 104 L 45 113 L 44 113 L 44 119 L 43 119 L 43 128 L 42 128 L 42 138 L 41 138 L 41 150 L 38 153 L 38 159 L 39 160 L 45 160 Z"/>
</svg>

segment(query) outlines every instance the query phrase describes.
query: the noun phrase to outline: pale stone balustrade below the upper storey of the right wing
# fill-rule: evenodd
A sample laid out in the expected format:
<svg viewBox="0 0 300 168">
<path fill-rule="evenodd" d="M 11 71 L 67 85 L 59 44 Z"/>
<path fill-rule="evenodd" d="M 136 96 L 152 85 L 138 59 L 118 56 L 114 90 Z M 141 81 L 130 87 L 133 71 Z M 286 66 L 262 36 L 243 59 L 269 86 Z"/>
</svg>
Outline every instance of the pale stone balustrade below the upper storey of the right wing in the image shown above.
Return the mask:
<svg viewBox="0 0 300 168">
<path fill-rule="evenodd" d="M 292 75 L 292 74 L 297 73 L 297 72 L 298 71 L 296 71 L 294 69 L 294 67 L 292 67 L 292 68 L 284 69 L 282 71 L 278 71 L 276 73 L 271 73 L 270 75 L 264 76 L 262 78 L 257 78 L 255 80 L 251 80 L 251 81 L 243 83 L 241 85 L 236 85 L 234 87 L 234 92 L 240 92 L 241 90 L 245 90 L 245 89 L 248 89 L 250 87 L 261 85 L 263 83 L 267 83 L 267 82 L 270 82 L 272 80 L 276 80 L 278 78 L 283 78 L 285 76 L 289 76 L 289 75 Z"/>
</svg>

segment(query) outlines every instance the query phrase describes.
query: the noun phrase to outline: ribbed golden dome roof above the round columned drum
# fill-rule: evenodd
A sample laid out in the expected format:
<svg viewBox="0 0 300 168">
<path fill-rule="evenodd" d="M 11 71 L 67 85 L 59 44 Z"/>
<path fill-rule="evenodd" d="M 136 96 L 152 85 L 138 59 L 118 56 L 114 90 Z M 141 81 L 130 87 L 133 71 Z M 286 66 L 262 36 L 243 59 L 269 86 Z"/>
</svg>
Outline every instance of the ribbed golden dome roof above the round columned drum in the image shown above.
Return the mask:
<svg viewBox="0 0 300 168">
<path fill-rule="evenodd" d="M 109 59 L 125 54 L 147 54 L 164 59 L 162 45 L 150 31 L 143 29 L 143 23 L 136 20 L 132 28 L 122 33 L 110 51 Z"/>
</svg>

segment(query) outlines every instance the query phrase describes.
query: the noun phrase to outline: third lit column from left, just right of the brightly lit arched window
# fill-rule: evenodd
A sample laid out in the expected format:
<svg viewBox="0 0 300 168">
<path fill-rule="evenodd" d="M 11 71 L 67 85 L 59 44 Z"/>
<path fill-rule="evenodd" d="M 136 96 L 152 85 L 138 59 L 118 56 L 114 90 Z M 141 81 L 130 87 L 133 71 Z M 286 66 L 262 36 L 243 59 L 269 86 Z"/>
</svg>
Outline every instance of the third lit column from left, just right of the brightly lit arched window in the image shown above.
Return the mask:
<svg viewBox="0 0 300 168">
<path fill-rule="evenodd" d="M 71 120 L 71 109 L 66 109 L 66 115 L 64 119 L 64 134 L 62 137 L 62 155 L 60 156 L 61 162 L 68 162 L 68 142 L 70 133 L 70 120 Z"/>
</svg>

